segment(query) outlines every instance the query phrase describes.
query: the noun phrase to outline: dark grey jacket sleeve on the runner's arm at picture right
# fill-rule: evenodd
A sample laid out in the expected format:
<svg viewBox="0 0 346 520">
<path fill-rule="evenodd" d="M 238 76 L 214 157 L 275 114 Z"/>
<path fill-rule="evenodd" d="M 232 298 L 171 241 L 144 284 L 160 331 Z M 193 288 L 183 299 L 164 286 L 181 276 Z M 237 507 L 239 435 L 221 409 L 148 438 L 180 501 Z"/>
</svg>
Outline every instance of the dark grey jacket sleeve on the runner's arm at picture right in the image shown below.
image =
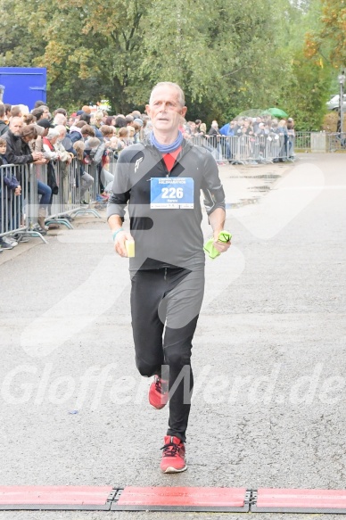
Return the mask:
<svg viewBox="0 0 346 520">
<path fill-rule="evenodd" d="M 207 214 L 210 215 L 217 208 L 225 210 L 225 192 L 218 177 L 218 165 L 208 151 L 205 151 L 203 171 L 202 192 Z"/>
</svg>

